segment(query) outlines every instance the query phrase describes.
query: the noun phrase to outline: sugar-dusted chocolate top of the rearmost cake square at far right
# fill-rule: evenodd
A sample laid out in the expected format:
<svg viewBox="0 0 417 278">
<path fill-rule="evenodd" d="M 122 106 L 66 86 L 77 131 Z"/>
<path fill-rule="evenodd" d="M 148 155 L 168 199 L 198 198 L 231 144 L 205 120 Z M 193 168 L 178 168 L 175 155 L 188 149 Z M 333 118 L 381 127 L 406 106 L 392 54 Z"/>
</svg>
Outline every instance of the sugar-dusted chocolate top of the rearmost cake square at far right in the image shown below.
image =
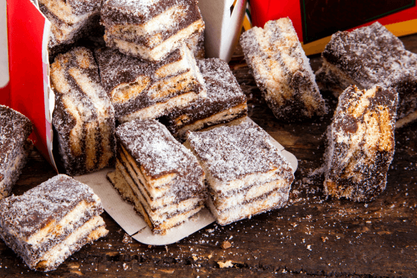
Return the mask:
<svg viewBox="0 0 417 278">
<path fill-rule="evenodd" d="M 379 22 L 332 35 L 322 56 L 363 88 L 389 87 L 404 76 L 417 75 L 417 54 Z"/>
</svg>

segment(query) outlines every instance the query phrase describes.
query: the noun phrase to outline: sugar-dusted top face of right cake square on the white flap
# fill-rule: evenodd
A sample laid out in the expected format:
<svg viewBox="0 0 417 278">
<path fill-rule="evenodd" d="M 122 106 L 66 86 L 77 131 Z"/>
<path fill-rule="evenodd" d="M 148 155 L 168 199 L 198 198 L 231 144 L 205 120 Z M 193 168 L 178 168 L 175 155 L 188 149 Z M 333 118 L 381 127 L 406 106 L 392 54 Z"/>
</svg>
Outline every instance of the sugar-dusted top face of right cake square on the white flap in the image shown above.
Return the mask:
<svg viewBox="0 0 417 278">
<path fill-rule="evenodd" d="M 248 174 L 290 168 L 268 133 L 252 123 L 188 134 L 191 147 L 213 177 L 232 181 Z"/>
</svg>

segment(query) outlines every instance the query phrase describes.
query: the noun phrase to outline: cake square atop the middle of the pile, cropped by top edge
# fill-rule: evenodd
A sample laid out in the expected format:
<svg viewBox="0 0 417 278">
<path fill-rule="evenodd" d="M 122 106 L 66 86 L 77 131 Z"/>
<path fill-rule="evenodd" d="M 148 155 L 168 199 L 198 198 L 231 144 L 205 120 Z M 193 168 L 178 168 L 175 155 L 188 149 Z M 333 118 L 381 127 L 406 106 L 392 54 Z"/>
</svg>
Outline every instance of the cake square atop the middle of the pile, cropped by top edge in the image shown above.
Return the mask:
<svg viewBox="0 0 417 278">
<path fill-rule="evenodd" d="M 101 9 L 108 47 L 159 61 L 181 44 L 197 43 L 204 22 L 195 0 L 107 0 Z"/>
</svg>

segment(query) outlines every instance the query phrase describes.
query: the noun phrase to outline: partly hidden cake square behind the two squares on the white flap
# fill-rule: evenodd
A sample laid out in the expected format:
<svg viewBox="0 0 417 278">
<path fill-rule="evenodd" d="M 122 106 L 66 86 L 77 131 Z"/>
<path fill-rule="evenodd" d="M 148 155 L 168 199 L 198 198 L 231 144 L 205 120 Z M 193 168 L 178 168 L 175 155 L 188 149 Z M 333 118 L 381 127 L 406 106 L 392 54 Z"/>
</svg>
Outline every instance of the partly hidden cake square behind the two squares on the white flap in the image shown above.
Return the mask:
<svg viewBox="0 0 417 278">
<path fill-rule="evenodd" d="M 185 138 L 186 131 L 197 131 L 209 126 L 234 121 L 241 122 L 247 115 L 246 97 L 224 60 L 197 60 L 206 84 L 207 97 L 191 102 L 185 108 L 172 111 L 168 129 L 177 138 Z"/>
</svg>

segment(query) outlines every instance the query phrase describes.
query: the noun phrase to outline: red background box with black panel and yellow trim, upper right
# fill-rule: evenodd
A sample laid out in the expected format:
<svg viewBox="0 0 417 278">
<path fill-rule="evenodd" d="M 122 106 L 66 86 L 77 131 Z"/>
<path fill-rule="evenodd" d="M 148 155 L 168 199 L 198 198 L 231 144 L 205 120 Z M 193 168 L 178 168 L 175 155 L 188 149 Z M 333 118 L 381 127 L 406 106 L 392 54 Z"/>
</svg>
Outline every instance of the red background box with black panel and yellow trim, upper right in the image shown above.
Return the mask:
<svg viewBox="0 0 417 278">
<path fill-rule="evenodd" d="M 307 55 L 318 54 L 332 33 L 380 22 L 394 35 L 417 33 L 416 0 L 250 0 L 252 24 L 289 17 Z"/>
</svg>

